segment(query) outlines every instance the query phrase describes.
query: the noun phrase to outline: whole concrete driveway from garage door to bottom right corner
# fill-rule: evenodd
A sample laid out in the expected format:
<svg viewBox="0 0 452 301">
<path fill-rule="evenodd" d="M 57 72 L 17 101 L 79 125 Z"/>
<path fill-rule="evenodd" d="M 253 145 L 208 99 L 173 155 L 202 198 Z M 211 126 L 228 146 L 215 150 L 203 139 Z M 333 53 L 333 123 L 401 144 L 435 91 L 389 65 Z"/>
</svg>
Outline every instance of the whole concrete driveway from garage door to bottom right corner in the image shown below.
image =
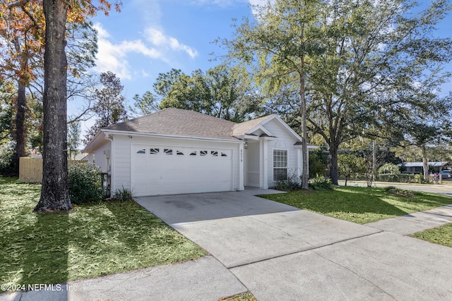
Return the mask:
<svg viewBox="0 0 452 301">
<path fill-rule="evenodd" d="M 137 200 L 262 300 L 452 300 L 452 248 L 255 197 Z"/>
</svg>

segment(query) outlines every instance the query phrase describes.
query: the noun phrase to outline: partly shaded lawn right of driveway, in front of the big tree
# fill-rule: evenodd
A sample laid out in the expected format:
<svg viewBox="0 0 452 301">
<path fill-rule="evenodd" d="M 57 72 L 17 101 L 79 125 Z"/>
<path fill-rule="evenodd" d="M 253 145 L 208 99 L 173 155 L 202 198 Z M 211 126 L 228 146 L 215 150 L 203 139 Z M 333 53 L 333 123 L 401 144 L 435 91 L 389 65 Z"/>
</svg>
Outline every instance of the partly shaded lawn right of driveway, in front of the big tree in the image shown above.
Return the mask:
<svg viewBox="0 0 452 301">
<path fill-rule="evenodd" d="M 451 197 L 414 192 L 394 194 L 383 188 L 338 187 L 323 191 L 292 191 L 262 195 L 266 199 L 353 223 L 371 223 L 452 204 Z"/>
</svg>

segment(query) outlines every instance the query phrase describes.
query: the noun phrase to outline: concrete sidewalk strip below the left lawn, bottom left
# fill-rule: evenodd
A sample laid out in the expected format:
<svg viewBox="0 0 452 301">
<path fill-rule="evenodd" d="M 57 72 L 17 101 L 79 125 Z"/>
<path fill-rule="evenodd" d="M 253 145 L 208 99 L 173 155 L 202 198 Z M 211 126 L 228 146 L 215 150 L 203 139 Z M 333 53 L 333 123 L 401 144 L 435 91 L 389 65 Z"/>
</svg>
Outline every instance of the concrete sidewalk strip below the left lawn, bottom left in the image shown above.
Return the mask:
<svg viewBox="0 0 452 301">
<path fill-rule="evenodd" d="M 61 290 L 54 285 L 47 290 L 3 293 L 0 300 L 219 300 L 247 290 L 217 259 L 206 256 L 189 262 L 70 281 L 61 285 Z"/>
</svg>

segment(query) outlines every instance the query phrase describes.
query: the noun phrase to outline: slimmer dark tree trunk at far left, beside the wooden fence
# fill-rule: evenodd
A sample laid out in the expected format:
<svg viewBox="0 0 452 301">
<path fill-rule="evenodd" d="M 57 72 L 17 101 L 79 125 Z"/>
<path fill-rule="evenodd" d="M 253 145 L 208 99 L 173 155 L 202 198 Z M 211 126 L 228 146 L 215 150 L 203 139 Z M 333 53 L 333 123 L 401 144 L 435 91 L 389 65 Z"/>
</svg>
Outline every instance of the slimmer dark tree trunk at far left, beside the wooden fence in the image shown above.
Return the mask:
<svg viewBox="0 0 452 301">
<path fill-rule="evenodd" d="M 15 137 L 16 149 L 14 152 L 13 173 L 19 174 L 19 158 L 25 156 L 25 144 L 27 139 L 27 132 L 25 130 L 25 113 L 27 112 L 27 98 L 25 95 L 25 85 L 22 80 L 18 80 L 17 102 L 16 102 L 16 119 L 15 123 Z"/>
</svg>

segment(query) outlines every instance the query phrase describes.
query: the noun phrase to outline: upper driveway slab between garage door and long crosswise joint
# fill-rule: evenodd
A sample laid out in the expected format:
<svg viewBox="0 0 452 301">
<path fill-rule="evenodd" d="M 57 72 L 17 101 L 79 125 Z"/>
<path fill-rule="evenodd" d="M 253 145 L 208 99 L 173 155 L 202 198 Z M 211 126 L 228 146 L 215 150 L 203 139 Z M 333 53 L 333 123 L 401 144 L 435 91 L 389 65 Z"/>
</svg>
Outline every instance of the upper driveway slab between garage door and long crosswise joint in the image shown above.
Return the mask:
<svg viewBox="0 0 452 301">
<path fill-rule="evenodd" d="M 137 202 L 227 268 L 381 232 L 299 210 L 244 190 L 140 197 Z"/>
</svg>

